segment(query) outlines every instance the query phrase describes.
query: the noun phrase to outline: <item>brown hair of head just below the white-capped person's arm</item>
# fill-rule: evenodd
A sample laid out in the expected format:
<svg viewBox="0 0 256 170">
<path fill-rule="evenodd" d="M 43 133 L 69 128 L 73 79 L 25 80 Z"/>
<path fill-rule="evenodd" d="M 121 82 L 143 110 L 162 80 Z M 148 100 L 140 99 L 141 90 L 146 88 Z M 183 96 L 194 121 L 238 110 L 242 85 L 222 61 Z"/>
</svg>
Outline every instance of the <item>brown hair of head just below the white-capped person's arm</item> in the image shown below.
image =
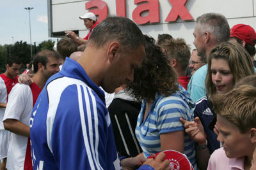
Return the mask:
<svg viewBox="0 0 256 170">
<path fill-rule="evenodd" d="M 57 43 L 57 51 L 60 53 L 62 58 L 69 57 L 71 53 L 77 51 L 76 43 L 70 38 L 62 38 Z"/>
</svg>

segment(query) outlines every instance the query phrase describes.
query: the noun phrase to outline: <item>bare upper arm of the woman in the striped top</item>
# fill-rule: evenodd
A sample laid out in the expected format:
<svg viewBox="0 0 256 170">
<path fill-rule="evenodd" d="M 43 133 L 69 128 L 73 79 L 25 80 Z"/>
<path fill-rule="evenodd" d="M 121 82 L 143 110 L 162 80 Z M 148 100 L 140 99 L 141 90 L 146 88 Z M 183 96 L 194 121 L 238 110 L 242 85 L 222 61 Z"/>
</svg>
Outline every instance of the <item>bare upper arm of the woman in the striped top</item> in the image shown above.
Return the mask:
<svg viewBox="0 0 256 170">
<path fill-rule="evenodd" d="M 161 150 L 176 150 L 184 153 L 184 131 L 160 134 Z"/>
</svg>

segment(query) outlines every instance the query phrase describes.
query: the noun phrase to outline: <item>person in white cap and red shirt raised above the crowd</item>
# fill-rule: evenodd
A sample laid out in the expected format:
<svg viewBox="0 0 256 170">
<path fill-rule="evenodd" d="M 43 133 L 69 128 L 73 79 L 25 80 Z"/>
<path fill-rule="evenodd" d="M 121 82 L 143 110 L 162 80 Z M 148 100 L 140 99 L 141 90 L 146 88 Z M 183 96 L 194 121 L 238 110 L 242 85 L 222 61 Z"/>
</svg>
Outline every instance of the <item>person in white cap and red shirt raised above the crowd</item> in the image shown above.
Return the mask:
<svg viewBox="0 0 256 170">
<path fill-rule="evenodd" d="M 97 18 L 92 12 L 88 12 L 83 16 L 79 16 L 79 18 L 81 20 L 84 20 L 84 25 L 86 29 L 90 30 L 87 36 L 84 38 L 79 38 L 79 36 L 77 36 L 76 33 L 73 31 L 65 31 L 65 34 L 68 38 L 73 39 L 75 43 L 77 43 L 77 45 L 83 45 L 87 43 L 93 28 L 96 27 L 96 25 L 99 24 L 99 22 L 97 22 Z"/>
</svg>

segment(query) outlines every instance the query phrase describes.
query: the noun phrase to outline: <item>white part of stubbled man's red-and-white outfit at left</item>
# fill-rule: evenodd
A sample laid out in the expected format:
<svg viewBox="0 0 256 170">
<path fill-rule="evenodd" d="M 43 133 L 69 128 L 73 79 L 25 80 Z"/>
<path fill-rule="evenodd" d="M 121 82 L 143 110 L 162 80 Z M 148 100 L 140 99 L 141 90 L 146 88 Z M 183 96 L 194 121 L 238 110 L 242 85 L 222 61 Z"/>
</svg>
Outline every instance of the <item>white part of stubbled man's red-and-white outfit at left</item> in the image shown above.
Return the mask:
<svg viewBox="0 0 256 170">
<path fill-rule="evenodd" d="M 30 87 L 18 83 L 13 87 L 8 97 L 3 120 L 12 118 L 29 125 L 29 118 L 33 109 L 33 96 Z M 27 144 L 27 137 L 11 133 L 7 153 L 7 169 L 21 170 L 24 168 Z"/>
</svg>

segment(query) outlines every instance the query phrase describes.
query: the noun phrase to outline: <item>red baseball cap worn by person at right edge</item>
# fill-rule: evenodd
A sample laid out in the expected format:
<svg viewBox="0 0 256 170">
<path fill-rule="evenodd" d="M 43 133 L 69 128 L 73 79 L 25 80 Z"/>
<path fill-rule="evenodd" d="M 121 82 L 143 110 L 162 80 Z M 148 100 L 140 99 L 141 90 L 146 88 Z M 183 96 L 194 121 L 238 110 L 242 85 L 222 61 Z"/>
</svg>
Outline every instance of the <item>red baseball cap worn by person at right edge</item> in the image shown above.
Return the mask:
<svg viewBox="0 0 256 170">
<path fill-rule="evenodd" d="M 250 25 L 237 24 L 230 29 L 230 38 L 237 37 L 246 43 L 255 46 L 256 32 Z"/>
</svg>

